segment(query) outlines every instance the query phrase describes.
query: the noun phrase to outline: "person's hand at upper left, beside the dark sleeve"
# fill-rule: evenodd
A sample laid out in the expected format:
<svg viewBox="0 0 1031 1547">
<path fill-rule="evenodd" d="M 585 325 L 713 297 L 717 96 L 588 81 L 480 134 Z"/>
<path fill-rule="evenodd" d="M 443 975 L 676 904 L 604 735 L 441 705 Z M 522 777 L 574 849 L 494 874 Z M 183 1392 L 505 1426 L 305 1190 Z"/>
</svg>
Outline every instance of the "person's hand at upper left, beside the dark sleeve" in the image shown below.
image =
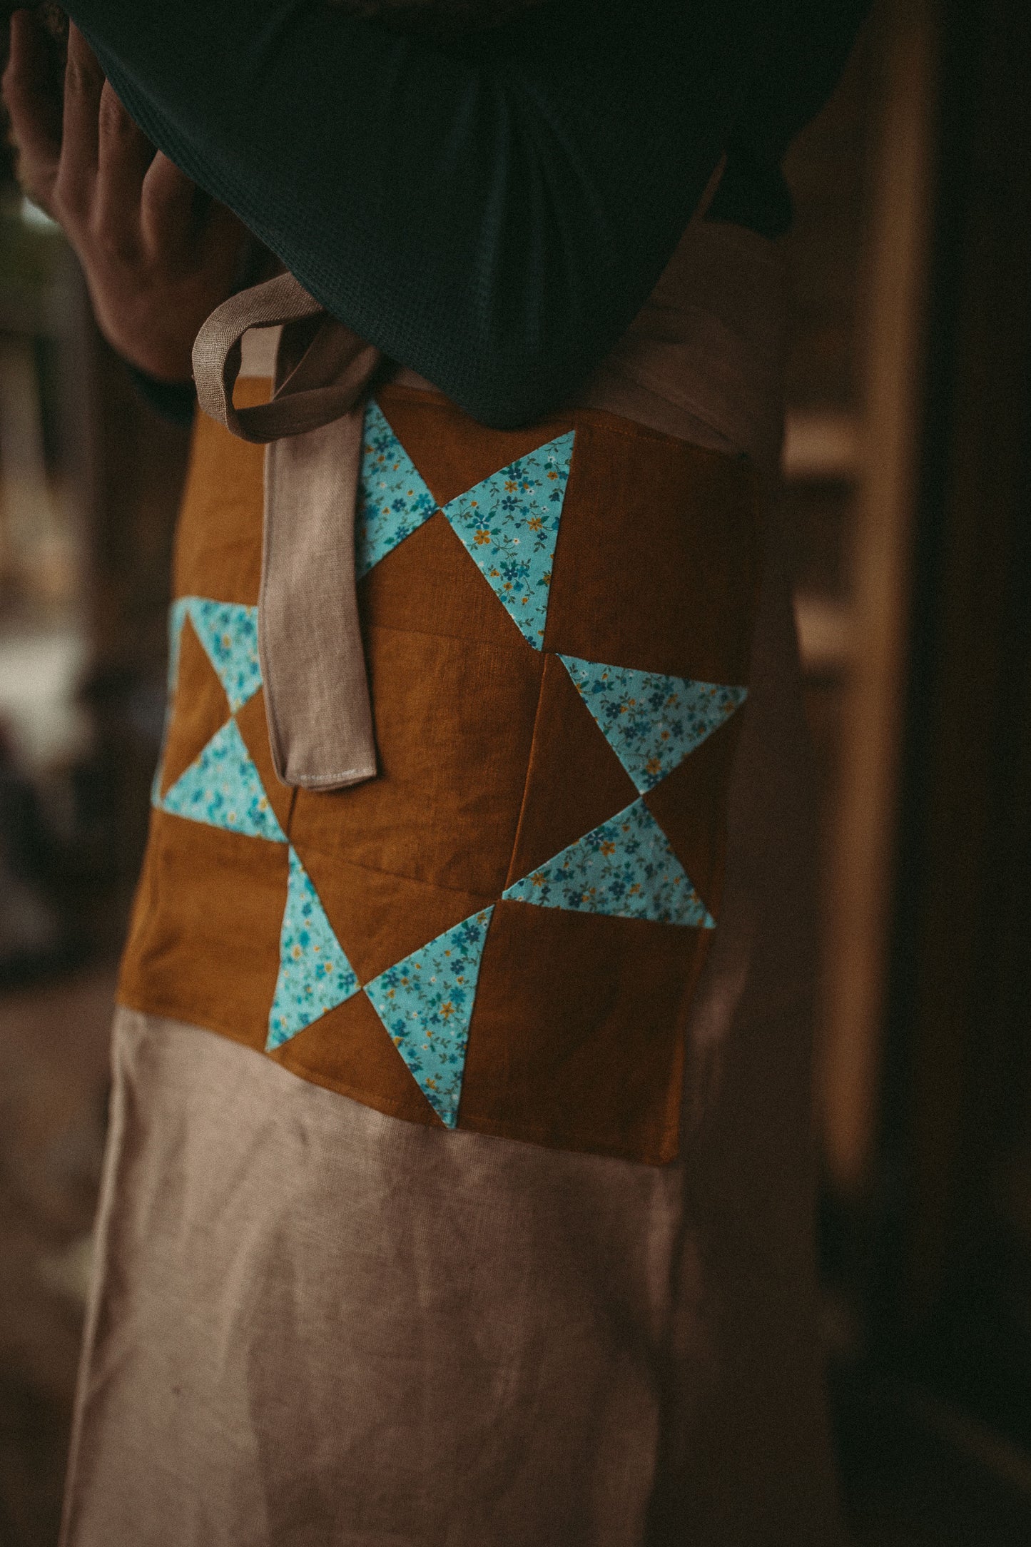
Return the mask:
<svg viewBox="0 0 1031 1547">
<path fill-rule="evenodd" d="M 71 241 L 107 340 L 161 381 L 187 381 L 193 340 L 233 291 L 244 226 L 145 138 L 90 45 L 68 34 L 63 105 L 49 40 L 11 17 L 3 99 L 19 181 Z"/>
</svg>

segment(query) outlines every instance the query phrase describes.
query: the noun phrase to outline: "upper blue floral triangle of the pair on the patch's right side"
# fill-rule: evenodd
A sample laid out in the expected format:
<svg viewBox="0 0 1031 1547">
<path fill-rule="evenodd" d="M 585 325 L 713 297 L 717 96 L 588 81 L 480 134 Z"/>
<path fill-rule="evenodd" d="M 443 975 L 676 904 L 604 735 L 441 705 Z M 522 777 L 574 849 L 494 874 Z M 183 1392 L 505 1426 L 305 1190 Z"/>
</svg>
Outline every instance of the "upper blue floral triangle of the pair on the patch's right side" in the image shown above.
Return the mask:
<svg viewBox="0 0 1031 1547">
<path fill-rule="evenodd" d="M 560 657 L 643 795 L 728 719 L 748 688 Z"/>
</svg>

